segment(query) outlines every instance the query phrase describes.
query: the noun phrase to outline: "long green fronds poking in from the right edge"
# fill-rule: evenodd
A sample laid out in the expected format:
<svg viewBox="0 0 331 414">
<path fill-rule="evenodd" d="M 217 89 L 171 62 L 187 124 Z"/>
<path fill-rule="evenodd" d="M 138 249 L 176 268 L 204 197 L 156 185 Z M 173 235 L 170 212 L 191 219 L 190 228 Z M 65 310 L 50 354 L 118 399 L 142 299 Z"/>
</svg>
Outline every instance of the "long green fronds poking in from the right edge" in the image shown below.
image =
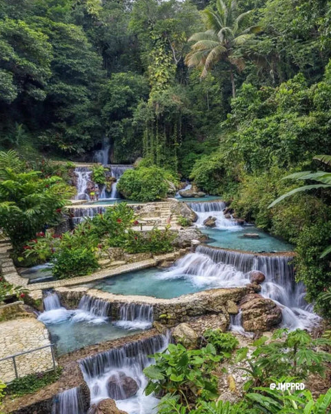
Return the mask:
<svg viewBox="0 0 331 414">
<path fill-rule="evenodd" d="M 331 155 L 316 155 L 313 159 L 316 159 L 317 161 L 323 162 L 323 164 L 327 166 L 331 166 Z M 317 181 L 319 184 L 311 184 L 309 186 L 301 186 L 298 188 L 294 188 L 294 190 L 289 191 L 288 193 L 281 195 L 281 197 L 278 197 L 274 201 L 272 201 L 272 204 L 268 206 L 269 208 L 272 208 L 276 204 L 278 204 L 283 199 L 290 197 L 291 195 L 294 195 L 296 193 L 301 193 L 301 191 L 307 191 L 307 190 L 316 190 L 317 188 L 330 188 L 331 187 L 331 172 L 325 172 L 325 171 L 317 171 L 317 172 L 311 172 L 311 171 L 301 171 L 301 172 L 294 172 L 294 174 L 287 175 L 283 179 L 310 179 L 313 181 Z M 321 254 L 321 259 L 331 253 L 331 246 L 328 246 L 325 248 L 323 253 Z"/>
</svg>

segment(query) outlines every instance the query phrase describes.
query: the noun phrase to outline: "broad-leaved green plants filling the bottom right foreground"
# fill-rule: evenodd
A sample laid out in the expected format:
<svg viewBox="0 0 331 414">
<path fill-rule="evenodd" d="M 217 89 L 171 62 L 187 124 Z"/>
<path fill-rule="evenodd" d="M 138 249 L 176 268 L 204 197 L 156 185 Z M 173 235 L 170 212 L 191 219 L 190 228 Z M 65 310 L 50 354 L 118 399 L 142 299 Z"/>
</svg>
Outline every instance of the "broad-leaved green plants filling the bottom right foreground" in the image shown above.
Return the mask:
<svg viewBox="0 0 331 414">
<path fill-rule="evenodd" d="M 222 337 L 222 335 L 224 335 Z M 237 339 L 230 333 L 208 330 L 204 337 L 221 339 L 228 351 L 237 346 Z M 194 351 L 186 350 L 182 345 L 168 346 L 168 352 L 155 354 L 155 364 L 145 368 L 149 378 L 146 393 L 157 391 L 161 402 L 160 414 L 292 414 L 326 413 L 331 405 L 331 389 L 317 399 L 308 390 L 270 389 L 271 383 L 303 382 L 310 373 L 323 375 L 330 362 L 330 354 L 321 351 L 321 347 L 330 346 L 326 339 L 312 339 L 301 330 L 288 333 L 284 329 L 274 332 L 268 341 L 261 337 L 253 343 L 254 350 L 240 348 L 234 359 L 226 359 L 228 364 L 238 364 L 247 377 L 244 394 L 240 402 L 232 404 L 213 398 L 208 401 L 217 388 L 214 374 L 218 377 L 226 374 L 221 363 L 231 353 L 220 352 L 212 345 Z M 210 359 L 211 358 L 211 359 Z M 189 364 L 189 368 L 188 368 Z M 210 364 L 213 365 L 210 371 Z M 248 368 L 247 368 L 248 367 Z M 201 378 L 202 374 L 202 378 Z M 209 388 L 201 390 L 203 382 L 210 378 Z M 214 386 L 214 388 L 210 388 Z M 212 394 L 210 394 L 212 391 Z"/>
</svg>

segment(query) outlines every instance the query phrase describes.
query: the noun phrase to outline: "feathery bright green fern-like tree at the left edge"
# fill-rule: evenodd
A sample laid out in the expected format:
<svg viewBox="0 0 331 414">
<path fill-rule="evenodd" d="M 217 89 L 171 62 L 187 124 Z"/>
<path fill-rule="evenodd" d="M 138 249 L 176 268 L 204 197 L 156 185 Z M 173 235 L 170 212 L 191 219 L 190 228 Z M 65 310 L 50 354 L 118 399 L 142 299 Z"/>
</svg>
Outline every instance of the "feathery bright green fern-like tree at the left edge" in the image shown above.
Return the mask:
<svg viewBox="0 0 331 414">
<path fill-rule="evenodd" d="M 14 151 L 0 152 L 0 227 L 16 253 L 46 225 L 61 221 L 71 194 L 61 177 L 43 177 Z"/>
</svg>

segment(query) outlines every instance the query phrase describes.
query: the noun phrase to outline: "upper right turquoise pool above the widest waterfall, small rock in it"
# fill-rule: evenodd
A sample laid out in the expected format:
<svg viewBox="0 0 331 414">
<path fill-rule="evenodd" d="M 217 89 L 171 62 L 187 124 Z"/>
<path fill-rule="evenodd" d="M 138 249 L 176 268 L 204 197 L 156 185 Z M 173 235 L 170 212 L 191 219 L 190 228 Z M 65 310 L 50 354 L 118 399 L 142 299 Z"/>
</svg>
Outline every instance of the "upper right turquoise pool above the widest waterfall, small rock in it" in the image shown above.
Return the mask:
<svg viewBox="0 0 331 414">
<path fill-rule="evenodd" d="M 201 228 L 203 234 L 210 237 L 209 246 L 230 248 L 234 250 L 245 250 L 250 252 L 285 252 L 292 251 L 293 246 L 283 240 L 272 237 L 254 226 L 237 227 L 232 230 L 221 230 L 218 228 Z M 245 233 L 255 233 L 259 239 L 243 237 Z"/>
</svg>

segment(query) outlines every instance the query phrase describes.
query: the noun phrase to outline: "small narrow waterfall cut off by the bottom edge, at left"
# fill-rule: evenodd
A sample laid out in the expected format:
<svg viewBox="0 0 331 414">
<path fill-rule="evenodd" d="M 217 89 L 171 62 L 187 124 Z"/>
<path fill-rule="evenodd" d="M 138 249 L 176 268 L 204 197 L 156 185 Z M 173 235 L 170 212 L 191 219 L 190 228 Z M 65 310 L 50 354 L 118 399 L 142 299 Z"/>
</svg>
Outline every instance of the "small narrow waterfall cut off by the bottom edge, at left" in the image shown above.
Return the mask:
<svg viewBox="0 0 331 414">
<path fill-rule="evenodd" d="M 52 414 L 85 414 L 83 398 L 78 386 L 54 397 Z"/>
</svg>

